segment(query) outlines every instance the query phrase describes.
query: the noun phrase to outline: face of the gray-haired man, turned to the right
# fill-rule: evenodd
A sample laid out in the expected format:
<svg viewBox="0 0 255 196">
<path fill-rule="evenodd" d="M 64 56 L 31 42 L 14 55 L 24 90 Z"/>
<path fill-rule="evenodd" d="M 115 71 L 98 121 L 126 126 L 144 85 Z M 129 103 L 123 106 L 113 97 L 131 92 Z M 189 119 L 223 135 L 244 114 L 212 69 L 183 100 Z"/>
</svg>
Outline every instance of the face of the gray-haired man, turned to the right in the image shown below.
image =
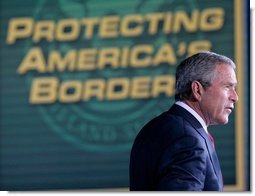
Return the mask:
<svg viewBox="0 0 255 196">
<path fill-rule="evenodd" d="M 202 94 L 201 110 L 208 125 L 226 124 L 238 100 L 236 75 L 226 64 L 216 66 L 216 77 Z"/>
</svg>

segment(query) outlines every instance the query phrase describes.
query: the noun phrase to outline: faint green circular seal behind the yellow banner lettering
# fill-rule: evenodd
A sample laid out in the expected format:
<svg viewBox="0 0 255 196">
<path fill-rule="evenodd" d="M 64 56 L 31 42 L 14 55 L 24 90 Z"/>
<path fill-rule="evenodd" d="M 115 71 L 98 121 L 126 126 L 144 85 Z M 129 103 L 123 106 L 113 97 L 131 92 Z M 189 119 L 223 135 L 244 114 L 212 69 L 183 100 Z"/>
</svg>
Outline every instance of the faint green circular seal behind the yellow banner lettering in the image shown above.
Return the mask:
<svg viewBox="0 0 255 196">
<path fill-rule="evenodd" d="M 54 20 L 62 18 L 89 18 L 104 17 L 111 15 L 127 15 L 129 13 L 144 12 L 163 12 L 169 7 L 171 1 L 136 1 L 129 3 L 128 7 L 113 7 L 112 4 L 102 1 L 39 1 L 35 12 L 35 20 Z M 119 5 L 119 3 L 118 3 Z M 127 6 L 123 2 L 122 6 Z M 50 7 L 50 12 L 48 11 Z M 128 9 L 126 9 L 128 8 Z M 128 10 L 127 13 L 125 13 Z M 169 11 L 169 10 L 168 10 Z M 152 39 L 153 38 L 153 39 Z M 44 53 L 52 50 L 58 50 L 66 53 L 72 49 L 80 50 L 82 48 L 100 48 L 107 46 L 123 47 L 135 46 L 138 44 L 151 44 L 156 48 L 162 43 L 178 44 L 175 35 L 157 35 L 157 37 L 148 37 L 142 34 L 139 37 L 113 39 L 100 39 L 93 37 L 84 40 L 79 38 L 73 42 L 50 42 L 38 43 Z M 25 49 L 29 49 L 31 43 L 27 44 Z M 111 78 L 132 78 L 134 76 L 156 77 L 160 75 L 174 75 L 175 67 L 167 64 L 158 67 L 145 67 L 134 69 L 97 69 L 85 72 L 58 72 L 48 75 L 57 77 L 60 81 L 79 80 L 87 81 L 93 78 L 108 80 Z M 27 75 L 29 84 L 35 74 Z M 37 74 L 38 76 L 38 74 Z M 85 89 L 86 91 L 86 89 Z M 172 96 L 172 95 L 171 95 Z M 36 105 L 42 118 L 45 120 L 51 130 L 57 133 L 65 141 L 88 151 L 114 152 L 130 150 L 135 136 L 139 130 L 153 117 L 167 110 L 173 98 L 171 96 L 160 95 L 146 99 L 127 98 L 123 100 L 97 100 L 79 101 L 75 103 L 54 102 L 52 104 Z"/>
</svg>

